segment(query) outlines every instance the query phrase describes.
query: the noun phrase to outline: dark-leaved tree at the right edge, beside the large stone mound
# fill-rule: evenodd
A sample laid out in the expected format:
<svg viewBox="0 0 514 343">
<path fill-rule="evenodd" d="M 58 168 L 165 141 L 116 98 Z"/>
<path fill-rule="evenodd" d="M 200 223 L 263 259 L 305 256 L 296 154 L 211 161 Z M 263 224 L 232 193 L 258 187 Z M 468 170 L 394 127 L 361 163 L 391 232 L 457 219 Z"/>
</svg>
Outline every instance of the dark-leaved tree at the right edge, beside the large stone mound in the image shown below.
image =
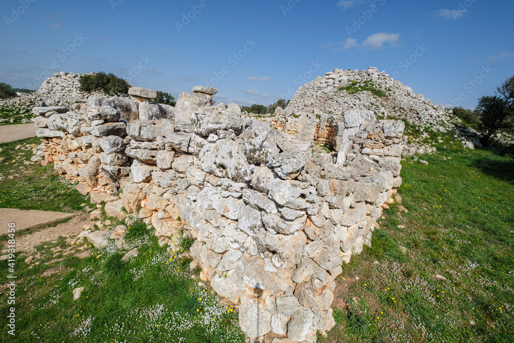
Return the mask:
<svg viewBox="0 0 514 343">
<path fill-rule="evenodd" d="M 483 143 L 487 143 L 489 138 L 500 129 L 513 129 L 514 76 L 498 85 L 494 96 L 480 98 L 475 112 L 479 113 L 485 129 L 482 135 Z"/>
</svg>

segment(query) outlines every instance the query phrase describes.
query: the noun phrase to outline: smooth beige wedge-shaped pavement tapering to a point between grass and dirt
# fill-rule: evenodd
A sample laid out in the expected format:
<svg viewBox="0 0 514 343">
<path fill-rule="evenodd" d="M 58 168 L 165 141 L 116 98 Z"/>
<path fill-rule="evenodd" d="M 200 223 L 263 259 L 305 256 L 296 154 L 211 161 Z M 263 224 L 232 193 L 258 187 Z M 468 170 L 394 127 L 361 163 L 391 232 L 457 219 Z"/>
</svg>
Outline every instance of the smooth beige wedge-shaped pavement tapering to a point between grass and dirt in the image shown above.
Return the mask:
<svg viewBox="0 0 514 343">
<path fill-rule="evenodd" d="M 0 236 L 8 233 L 9 223 L 14 223 L 16 231 L 20 231 L 38 225 L 51 224 L 76 215 L 76 213 L 0 208 Z"/>
</svg>

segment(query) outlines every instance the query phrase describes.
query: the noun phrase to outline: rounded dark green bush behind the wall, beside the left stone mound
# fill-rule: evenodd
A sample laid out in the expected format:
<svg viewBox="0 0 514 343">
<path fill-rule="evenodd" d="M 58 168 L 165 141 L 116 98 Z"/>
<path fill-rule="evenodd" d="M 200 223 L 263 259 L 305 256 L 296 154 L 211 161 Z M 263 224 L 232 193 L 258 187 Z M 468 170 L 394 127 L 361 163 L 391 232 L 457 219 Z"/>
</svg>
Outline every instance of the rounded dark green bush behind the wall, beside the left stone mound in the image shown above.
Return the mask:
<svg viewBox="0 0 514 343">
<path fill-rule="evenodd" d="M 91 93 L 99 92 L 108 95 L 127 96 L 130 83 L 109 73 L 103 71 L 93 75 L 82 75 L 80 78 L 80 90 L 82 92 Z"/>
</svg>

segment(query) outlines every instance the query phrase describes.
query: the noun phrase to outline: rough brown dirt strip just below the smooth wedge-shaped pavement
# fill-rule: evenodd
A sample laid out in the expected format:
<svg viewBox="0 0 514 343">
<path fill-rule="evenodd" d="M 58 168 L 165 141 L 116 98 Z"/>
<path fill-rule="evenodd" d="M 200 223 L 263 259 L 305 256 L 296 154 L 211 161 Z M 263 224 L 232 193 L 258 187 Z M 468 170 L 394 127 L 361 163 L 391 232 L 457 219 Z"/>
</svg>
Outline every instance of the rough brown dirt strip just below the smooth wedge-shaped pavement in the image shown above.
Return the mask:
<svg viewBox="0 0 514 343">
<path fill-rule="evenodd" d="M 76 236 L 82 232 L 84 225 L 90 224 L 93 224 L 93 222 L 89 220 L 89 213 L 85 213 L 72 218 L 66 223 L 24 234 L 23 236 L 16 238 L 16 251 L 23 251 L 25 254 L 31 254 L 35 251 L 35 246 L 44 242 L 56 241 L 59 239 L 59 236 Z M 7 241 L 3 242 L 3 248 L 5 248 L 6 245 Z"/>
</svg>

